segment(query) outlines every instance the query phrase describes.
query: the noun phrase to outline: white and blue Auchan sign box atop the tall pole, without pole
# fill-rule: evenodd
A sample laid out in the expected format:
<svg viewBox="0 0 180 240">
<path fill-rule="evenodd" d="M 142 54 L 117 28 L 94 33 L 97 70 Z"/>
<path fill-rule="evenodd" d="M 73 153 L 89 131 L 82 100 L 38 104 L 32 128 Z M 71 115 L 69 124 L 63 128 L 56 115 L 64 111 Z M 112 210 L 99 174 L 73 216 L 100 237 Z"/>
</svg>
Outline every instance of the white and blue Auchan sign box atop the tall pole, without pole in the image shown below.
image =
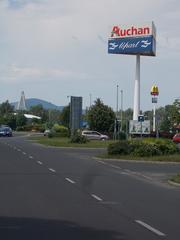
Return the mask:
<svg viewBox="0 0 180 240">
<path fill-rule="evenodd" d="M 108 53 L 155 56 L 154 23 L 112 26 L 108 40 Z"/>
</svg>

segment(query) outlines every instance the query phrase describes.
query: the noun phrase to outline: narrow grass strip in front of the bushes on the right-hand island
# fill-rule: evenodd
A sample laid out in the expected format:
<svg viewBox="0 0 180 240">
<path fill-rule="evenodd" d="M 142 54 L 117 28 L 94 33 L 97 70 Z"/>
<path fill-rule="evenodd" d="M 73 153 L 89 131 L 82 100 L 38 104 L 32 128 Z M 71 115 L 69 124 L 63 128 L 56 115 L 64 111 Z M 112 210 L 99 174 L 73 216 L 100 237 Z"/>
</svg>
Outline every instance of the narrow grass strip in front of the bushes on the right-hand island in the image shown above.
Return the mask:
<svg viewBox="0 0 180 240">
<path fill-rule="evenodd" d="M 98 157 L 104 159 L 117 159 L 117 160 L 140 160 L 140 161 L 154 161 L 154 162 L 180 162 L 180 154 L 151 156 L 151 157 L 135 157 L 131 155 L 108 155 L 99 154 Z"/>
</svg>

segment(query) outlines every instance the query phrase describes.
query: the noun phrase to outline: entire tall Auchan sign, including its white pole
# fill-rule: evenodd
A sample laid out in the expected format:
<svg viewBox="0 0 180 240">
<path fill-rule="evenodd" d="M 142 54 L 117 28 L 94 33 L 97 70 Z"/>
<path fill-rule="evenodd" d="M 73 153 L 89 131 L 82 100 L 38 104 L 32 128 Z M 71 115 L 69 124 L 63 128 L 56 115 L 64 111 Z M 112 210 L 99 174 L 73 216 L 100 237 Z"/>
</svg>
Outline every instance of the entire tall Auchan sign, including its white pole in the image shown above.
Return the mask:
<svg viewBox="0 0 180 240">
<path fill-rule="evenodd" d="M 156 29 L 153 22 L 114 25 L 108 39 L 109 54 L 136 55 L 133 120 L 140 113 L 140 56 L 156 55 Z"/>
</svg>

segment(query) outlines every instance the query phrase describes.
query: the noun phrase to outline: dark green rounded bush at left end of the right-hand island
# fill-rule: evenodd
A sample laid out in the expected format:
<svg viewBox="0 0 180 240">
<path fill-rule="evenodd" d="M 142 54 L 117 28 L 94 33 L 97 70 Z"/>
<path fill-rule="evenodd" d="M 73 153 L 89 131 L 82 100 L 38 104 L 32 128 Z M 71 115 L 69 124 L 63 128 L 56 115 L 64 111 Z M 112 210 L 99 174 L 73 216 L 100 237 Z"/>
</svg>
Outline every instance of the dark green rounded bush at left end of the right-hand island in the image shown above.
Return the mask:
<svg viewBox="0 0 180 240">
<path fill-rule="evenodd" d="M 127 155 L 130 153 L 130 144 L 128 141 L 119 141 L 116 143 L 109 144 L 108 154 L 115 155 Z"/>
</svg>

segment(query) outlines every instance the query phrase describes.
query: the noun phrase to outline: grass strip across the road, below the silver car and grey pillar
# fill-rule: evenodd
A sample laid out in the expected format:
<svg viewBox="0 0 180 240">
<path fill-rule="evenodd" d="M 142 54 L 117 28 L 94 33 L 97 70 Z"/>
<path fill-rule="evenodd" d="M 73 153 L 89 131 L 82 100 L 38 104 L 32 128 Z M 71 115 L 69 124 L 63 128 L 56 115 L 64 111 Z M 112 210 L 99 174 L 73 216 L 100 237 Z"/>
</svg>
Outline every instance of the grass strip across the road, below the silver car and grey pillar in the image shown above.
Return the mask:
<svg viewBox="0 0 180 240">
<path fill-rule="evenodd" d="M 113 141 L 89 141 L 87 143 L 70 143 L 69 138 L 63 138 L 63 137 L 53 137 L 48 138 L 44 136 L 38 136 L 38 137 L 31 137 L 31 140 L 46 145 L 46 146 L 55 146 L 55 147 L 82 147 L 82 148 L 107 148 L 108 144 L 112 143 Z"/>
</svg>

